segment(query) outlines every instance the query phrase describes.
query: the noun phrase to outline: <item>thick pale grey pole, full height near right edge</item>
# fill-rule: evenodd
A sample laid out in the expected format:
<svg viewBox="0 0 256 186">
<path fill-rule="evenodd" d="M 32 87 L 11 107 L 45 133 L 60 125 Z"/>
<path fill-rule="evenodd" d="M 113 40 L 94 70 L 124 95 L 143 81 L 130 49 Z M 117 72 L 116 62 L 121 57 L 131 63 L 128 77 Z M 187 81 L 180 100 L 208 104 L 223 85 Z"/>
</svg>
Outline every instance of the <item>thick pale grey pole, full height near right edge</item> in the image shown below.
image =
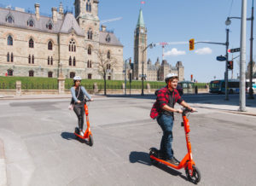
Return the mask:
<svg viewBox="0 0 256 186">
<path fill-rule="evenodd" d="M 246 26 L 247 26 L 247 0 L 241 2 L 241 50 L 240 50 L 240 107 L 239 111 L 246 111 Z"/>
</svg>

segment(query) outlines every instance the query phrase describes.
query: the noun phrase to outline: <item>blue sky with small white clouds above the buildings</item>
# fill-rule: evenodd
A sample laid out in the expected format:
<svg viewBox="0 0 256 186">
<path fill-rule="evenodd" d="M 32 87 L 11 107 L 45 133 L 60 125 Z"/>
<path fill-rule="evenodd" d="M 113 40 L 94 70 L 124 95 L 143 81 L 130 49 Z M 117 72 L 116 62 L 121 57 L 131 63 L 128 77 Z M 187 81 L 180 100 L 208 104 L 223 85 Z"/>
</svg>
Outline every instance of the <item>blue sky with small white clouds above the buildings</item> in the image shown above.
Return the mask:
<svg viewBox="0 0 256 186">
<path fill-rule="evenodd" d="M 253 0 L 247 0 L 247 17 L 251 17 Z M 40 12 L 51 15 L 52 7 L 59 7 L 60 2 L 66 9 L 72 9 L 74 0 L 0 0 L 4 5 L 34 10 L 34 3 L 40 3 Z M 132 57 L 134 31 L 139 10 L 143 9 L 143 18 L 148 30 L 148 44 L 160 42 L 172 43 L 165 48 L 165 60 L 175 66 L 182 61 L 184 78 L 190 80 L 191 74 L 198 82 L 223 79 L 225 62 L 217 61 L 218 55 L 225 55 L 225 46 L 218 44 L 195 44 L 195 50 L 189 51 L 189 39 L 225 43 L 226 29 L 230 29 L 230 49 L 240 47 L 241 20 L 231 20 L 230 26 L 224 22 L 228 16 L 241 17 L 241 0 L 99 0 L 100 20 L 122 17 L 105 23 L 107 29 L 113 30 L 121 44 L 124 45 L 124 60 Z M 255 14 L 254 14 L 255 15 Z M 254 24 L 255 25 L 255 24 Z M 247 21 L 247 54 L 249 61 L 251 22 Z M 253 28 L 253 30 L 255 30 Z M 254 36 L 254 34 L 253 34 Z M 176 44 L 175 44 L 176 43 Z M 253 40 L 253 46 L 255 39 Z M 254 47 L 255 48 L 255 47 Z M 253 59 L 256 53 L 253 49 Z M 233 53 L 233 57 L 240 53 Z M 148 48 L 148 58 L 154 63 L 162 60 L 162 48 L 156 45 Z M 229 55 L 229 60 L 232 54 Z M 240 57 L 234 60 L 233 78 L 239 75 Z M 229 78 L 232 72 L 229 71 Z"/>
</svg>

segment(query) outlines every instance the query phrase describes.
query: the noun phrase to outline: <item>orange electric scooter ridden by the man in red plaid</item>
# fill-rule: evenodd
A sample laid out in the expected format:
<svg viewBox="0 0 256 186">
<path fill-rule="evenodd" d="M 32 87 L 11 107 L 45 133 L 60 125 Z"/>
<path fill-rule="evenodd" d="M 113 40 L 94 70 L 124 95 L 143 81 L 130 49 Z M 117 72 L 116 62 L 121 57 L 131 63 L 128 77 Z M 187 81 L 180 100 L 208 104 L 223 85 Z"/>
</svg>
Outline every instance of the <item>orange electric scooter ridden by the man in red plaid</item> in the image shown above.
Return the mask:
<svg viewBox="0 0 256 186">
<path fill-rule="evenodd" d="M 159 150 L 156 148 L 150 148 L 149 156 L 151 162 L 156 165 L 158 163 L 162 163 L 166 166 L 172 166 L 174 169 L 181 169 L 184 168 L 186 171 L 186 176 L 188 177 L 189 181 L 192 183 L 199 183 L 201 180 L 201 173 L 198 170 L 198 168 L 195 166 L 195 162 L 192 159 L 192 150 L 191 150 L 191 144 L 190 144 L 190 138 L 189 138 L 189 119 L 187 118 L 186 114 L 191 112 L 188 108 L 183 109 L 183 122 L 181 125 L 184 127 L 185 136 L 186 136 L 186 142 L 187 142 L 187 148 L 188 148 L 188 154 L 185 155 L 183 160 L 179 163 L 178 166 L 174 166 L 171 163 L 159 159 Z"/>
</svg>

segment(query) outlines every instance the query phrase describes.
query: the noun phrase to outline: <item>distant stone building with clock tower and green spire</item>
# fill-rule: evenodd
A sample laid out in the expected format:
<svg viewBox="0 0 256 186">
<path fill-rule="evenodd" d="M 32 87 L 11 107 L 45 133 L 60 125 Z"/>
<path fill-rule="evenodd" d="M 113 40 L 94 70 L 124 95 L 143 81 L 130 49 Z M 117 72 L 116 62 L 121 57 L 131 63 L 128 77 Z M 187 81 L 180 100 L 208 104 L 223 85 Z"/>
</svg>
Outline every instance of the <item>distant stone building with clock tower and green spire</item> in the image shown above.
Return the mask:
<svg viewBox="0 0 256 186">
<path fill-rule="evenodd" d="M 176 66 L 172 67 L 166 60 L 160 64 L 159 59 L 152 64 L 147 60 L 147 28 L 143 20 L 143 11 L 140 9 L 137 26 L 134 32 L 134 65 L 133 78 L 141 79 L 142 74 L 148 81 L 163 81 L 168 73 L 177 73 L 180 81 L 184 79 L 184 67 L 181 61 L 177 61 Z"/>
</svg>

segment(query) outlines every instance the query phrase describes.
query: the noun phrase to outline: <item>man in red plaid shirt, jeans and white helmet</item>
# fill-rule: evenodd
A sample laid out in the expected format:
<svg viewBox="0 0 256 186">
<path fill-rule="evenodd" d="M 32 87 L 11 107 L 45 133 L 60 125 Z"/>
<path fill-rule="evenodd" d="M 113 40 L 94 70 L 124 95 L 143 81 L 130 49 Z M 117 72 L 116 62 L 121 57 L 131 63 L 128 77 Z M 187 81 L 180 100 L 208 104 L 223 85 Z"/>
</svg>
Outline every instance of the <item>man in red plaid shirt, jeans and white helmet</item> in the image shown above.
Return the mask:
<svg viewBox="0 0 256 186">
<path fill-rule="evenodd" d="M 160 159 L 177 166 L 179 161 L 173 156 L 172 150 L 173 113 L 183 113 L 183 111 L 181 109 L 175 109 L 174 105 L 177 102 L 184 108 L 189 108 L 192 112 L 195 111 L 195 108 L 189 107 L 189 104 L 184 102 L 181 96 L 179 96 L 176 89 L 177 74 L 169 73 L 165 80 L 167 85 L 158 91 L 150 117 L 157 119 L 157 123 L 163 130 L 163 137 L 160 143 Z"/>
</svg>

